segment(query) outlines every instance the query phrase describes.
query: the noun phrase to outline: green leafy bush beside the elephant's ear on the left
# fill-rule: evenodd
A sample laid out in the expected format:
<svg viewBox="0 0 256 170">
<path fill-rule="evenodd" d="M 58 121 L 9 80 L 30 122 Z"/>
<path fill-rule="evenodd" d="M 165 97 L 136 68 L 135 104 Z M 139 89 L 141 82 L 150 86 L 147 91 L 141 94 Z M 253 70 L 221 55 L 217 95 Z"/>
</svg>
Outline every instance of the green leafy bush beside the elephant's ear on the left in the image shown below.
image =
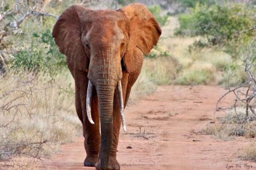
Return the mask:
<svg viewBox="0 0 256 170">
<path fill-rule="evenodd" d="M 65 56 L 59 52 L 50 30 L 46 30 L 41 35 L 33 33 L 30 47 L 23 47 L 8 63 L 16 72 L 42 72 L 52 77 L 66 66 Z"/>
</svg>

